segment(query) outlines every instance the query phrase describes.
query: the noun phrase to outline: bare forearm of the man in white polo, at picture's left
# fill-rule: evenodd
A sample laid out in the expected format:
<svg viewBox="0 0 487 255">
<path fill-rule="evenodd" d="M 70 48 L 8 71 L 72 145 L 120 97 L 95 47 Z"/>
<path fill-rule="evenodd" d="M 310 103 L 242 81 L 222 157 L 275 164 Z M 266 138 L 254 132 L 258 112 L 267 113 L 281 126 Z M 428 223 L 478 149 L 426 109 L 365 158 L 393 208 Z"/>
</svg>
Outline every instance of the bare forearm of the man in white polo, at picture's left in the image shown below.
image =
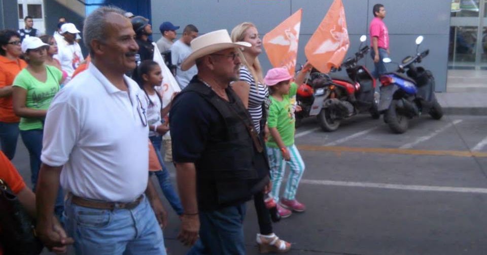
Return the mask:
<svg viewBox="0 0 487 255">
<path fill-rule="evenodd" d="M 39 180 L 36 188 L 37 219 L 44 226 L 52 226 L 52 216 L 57 191 L 59 189 L 59 175 L 62 166 L 54 167 L 41 165 Z"/>
</svg>

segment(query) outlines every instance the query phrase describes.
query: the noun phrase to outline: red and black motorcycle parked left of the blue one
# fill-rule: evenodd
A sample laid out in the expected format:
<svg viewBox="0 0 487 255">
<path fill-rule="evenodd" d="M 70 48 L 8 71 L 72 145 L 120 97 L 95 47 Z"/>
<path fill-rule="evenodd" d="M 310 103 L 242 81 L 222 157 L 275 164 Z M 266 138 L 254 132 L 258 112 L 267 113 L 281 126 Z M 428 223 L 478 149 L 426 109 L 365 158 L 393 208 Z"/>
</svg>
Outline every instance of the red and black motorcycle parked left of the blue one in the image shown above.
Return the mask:
<svg viewBox="0 0 487 255">
<path fill-rule="evenodd" d="M 341 120 L 359 113 L 369 112 L 373 119 L 380 117 L 377 111 L 377 96 L 375 95 L 375 79 L 364 65 L 358 65 L 370 50 L 369 46 L 362 47 L 367 40 L 366 35 L 360 38 L 359 51 L 349 57 L 331 74 L 311 72 L 307 84 L 298 88 L 297 101 L 301 112 L 296 114 L 297 123 L 308 116 L 317 116 L 324 131 L 335 131 Z M 347 77 L 335 75 L 334 72 L 345 68 Z"/>
</svg>

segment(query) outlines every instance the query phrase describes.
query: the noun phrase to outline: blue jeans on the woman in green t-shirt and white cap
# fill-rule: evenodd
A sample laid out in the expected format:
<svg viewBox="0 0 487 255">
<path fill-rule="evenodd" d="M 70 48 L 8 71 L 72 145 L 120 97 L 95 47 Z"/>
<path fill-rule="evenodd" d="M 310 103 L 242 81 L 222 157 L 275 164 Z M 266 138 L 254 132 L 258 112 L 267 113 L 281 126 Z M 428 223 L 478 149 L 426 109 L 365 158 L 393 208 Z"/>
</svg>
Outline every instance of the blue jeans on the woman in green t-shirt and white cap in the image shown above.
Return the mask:
<svg viewBox="0 0 487 255">
<path fill-rule="evenodd" d="M 39 177 L 39 170 L 41 169 L 41 152 L 42 152 L 42 129 L 21 130 L 20 136 L 25 144 L 25 148 L 29 152 L 30 159 L 30 181 L 32 183 L 32 191 L 36 191 L 37 179 Z M 62 188 L 59 187 L 57 191 L 56 203 L 54 205 L 55 214 L 61 218 L 64 210 L 64 195 Z"/>
</svg>

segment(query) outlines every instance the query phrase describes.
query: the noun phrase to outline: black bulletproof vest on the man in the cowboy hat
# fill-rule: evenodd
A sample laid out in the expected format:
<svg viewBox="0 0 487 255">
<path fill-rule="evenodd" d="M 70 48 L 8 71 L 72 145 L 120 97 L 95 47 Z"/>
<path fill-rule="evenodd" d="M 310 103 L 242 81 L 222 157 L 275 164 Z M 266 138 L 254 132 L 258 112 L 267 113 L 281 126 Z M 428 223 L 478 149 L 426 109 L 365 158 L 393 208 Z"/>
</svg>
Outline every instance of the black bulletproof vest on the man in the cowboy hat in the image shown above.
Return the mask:
<svg viewBox="0 0 487 255">
<path fill-rule="evenodd" d="M 227 89 L 229 103 L 220 98 L 211 88 L 199 82 L 190 83 L 183 92 L 196 92 L 213 105 L 223 119 L 226 137 L 219 142 L 208 142 L 200 160 L 196 162 L 198 177 L 216 181 L 258 178 L 254 166 L 256 154 L 248 127 L 252 120 L 245 106 L 231 88 Z M 232 191 L 233 192 L 233 191 Z"/>
</svg>

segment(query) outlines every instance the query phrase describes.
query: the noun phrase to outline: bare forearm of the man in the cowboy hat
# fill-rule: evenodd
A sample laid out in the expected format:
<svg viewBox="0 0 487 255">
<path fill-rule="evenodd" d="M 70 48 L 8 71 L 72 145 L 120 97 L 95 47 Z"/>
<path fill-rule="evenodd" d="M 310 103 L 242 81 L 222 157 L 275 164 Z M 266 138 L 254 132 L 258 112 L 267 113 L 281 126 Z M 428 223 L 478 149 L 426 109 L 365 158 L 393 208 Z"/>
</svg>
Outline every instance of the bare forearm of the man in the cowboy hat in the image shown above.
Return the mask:
<svg viewBox="0 0 487 255">
<path fill-rule="evenodd" d="M 176 179 L 184 213 L 198 212 L 196 199 L 196 167 L 194 163 L 176 163 Z"/>
</svg>

